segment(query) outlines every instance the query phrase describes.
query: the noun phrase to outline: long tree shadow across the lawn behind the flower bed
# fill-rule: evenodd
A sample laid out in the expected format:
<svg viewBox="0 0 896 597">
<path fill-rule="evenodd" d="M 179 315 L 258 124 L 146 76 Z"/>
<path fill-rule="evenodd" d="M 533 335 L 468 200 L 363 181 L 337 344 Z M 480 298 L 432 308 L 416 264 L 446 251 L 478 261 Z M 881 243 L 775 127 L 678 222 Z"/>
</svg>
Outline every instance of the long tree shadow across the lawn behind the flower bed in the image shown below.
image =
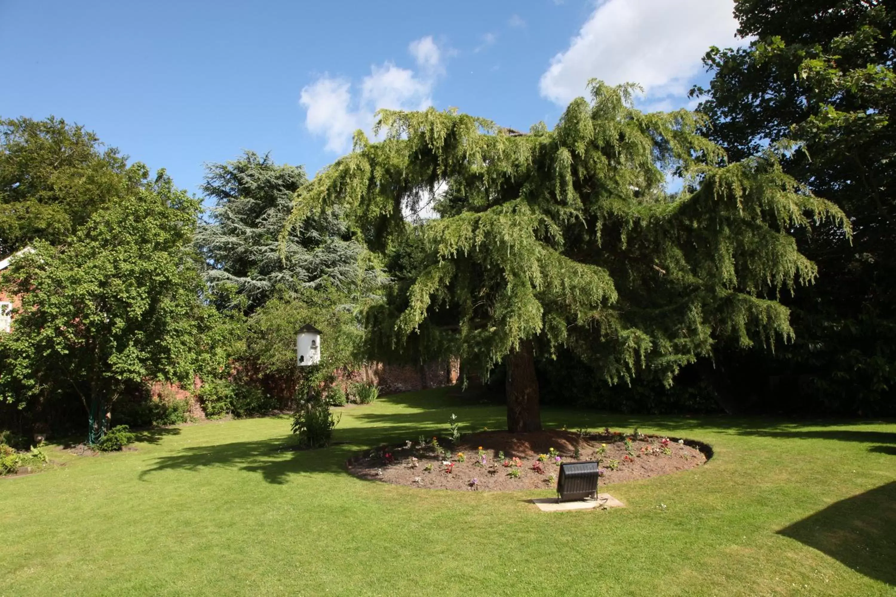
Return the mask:
<svg viewBox="0 0 896 597">
<path fill-rule="evenodd" d="M 448 388 L 451 389 L 451 388 Z M 456 410 L 463 432 L 476 431 L 487 426 L 489 429 L 505 428 L 504 409 L 495 405 L 470 404 L 467 400 L 456 400 L 451 392 L 429 390 L 408 392 L 382 398 L 383 402 L 402 405 L 416 410 L 402 413 L 382 413 L 366 407 L 352 408 L 350 413 L 357 427 L 337 427 L 330 448 L 297 449 L 296 439 L 290 434 L 257 441 L 242 441 L 215 446 L 195 446 L 184 448 L 176 454 L 160 456 L 154 465 L 141 473 L 141 479 L 151 481 L 153 473 L 168 470 L 198 471 L 207 467 L 228 467 L 250 473 L 260 473 L 266 482 L 281 484 L 290 475 L 308 473 L 348 474 L 345 466 L 349 457 L 368 448 L 384 444 L 399 444 L 416 440 L 420 435 L 431 437 L 443 435 L 448 430 L 448 415 Z M 465 409 L 465 410 L 461 410 Z M 694 431 L 701 427 L 744 435 L 763 435 L 780 438 L 816 438 L 843 441 L 863 441 L 882 444 L 879 448 L 891 454 L 890 445 L 896 444 L 896 433 L 883 431 L 823 430 L 800 431 L 797 423 L 780 420 L 725 417 L 662 417 L 625 414 L 605 414 L 596 411 L 572 409 L 546 409 L 545 427 L 558 428 L 566 424 L 569 429 L 597 429 L 609 426 L 611 429 L 627 430 L 633 427 L 650 426 L 668 431 Z M 811 424 L 811 423 L 809 423 Z M 849 422 L 829 422 L 846 425 Z M 284 427 L 285 429 L 286 427 Z M 156 443 L 167 434 L 179 433 L 179 428 L 163 428 L 141 431 L 139 440 Z M 874 449 L 874 448 L 872 448 Z"/>
</svg>

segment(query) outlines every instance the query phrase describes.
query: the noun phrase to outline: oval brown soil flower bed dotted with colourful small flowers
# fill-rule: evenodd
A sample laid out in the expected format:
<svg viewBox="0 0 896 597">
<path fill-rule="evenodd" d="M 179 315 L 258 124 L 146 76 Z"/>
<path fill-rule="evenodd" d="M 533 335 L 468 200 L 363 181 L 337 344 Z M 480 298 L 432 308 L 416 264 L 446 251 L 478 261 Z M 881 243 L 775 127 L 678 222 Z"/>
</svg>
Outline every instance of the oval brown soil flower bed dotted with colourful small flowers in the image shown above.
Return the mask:
<svg viewBox="0 0 896 597">
<path fill-rule="evenodd" d="M 630 451 L 625 439 L 631 441 Z M 408 441 L 401 446 L 366 450 L 349 459 L 349 473 L 426 489 L 534 490 L 556 487 L 560 467 L 556 457 L 549 456 L 551 448 L 561 462 L 599 460 L 601 486 L 684 471 L 702 465 L 707 455 L 711 456 L 711 448 L 700 442 L 642 434 L 625 436 L 609 430 L 584 434 L 561 430 L 482 431 L 461 437 L 450 450 L 445 448 L 450 446 L 448 440 L 436 441 L 438 447 L 430 439 L 426 444 Z M 499 452 L 504 452 L 504 460 L 498 458 Z M 538 461 L 541 455 L 545 456 L 543 462 Z M 513 470 L 519 471 L 519 477 L 512 476 Z"/>
</svg>

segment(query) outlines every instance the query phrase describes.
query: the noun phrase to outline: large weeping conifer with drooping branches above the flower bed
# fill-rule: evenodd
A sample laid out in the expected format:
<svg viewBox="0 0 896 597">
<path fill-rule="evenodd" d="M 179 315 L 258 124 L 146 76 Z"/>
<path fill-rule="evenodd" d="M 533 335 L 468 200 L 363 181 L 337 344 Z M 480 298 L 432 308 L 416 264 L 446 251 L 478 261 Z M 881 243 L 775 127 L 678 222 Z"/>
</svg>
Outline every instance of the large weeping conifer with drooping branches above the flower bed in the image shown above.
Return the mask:
<svg viewBox="0 0 896 597">
<path fill-rule="evenodd" d="M 507 368 L 508 429 L 538 429 L 534 359 L 558 346 L 612 382 L 670 383 L 713 344 L 792 336 L 780 290 L 814 279 L 795 228 L 842 214 L 799 187 L 771 150 L 730 165 L 685 110 L 642 114 L 632 86 L 592 81 L 553 131 L 453 111 L 381 111 L 383 141 L 297 192 L 292 221 L 340 205 L 384 243 L 435 198 L 423 267 L 398 328 L 449 338 L 461 362 Z M 707 165 L 708 164 L 708 165 Z M 665 191 L 668 172 L 685 191 Z"/>
</svg>

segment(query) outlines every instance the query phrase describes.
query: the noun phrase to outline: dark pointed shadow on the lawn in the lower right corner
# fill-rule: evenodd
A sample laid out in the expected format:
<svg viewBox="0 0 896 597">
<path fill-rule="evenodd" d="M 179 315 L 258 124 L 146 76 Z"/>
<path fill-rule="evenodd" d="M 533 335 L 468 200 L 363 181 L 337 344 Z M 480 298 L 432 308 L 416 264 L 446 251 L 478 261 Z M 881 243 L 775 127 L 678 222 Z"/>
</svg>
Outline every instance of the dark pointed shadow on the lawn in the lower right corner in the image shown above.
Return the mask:
<svg viewBox="0 0 896 597">
<path fill-rule="evenodd" d="M 778 533 L 896 585 L 896 482 L 842 499 Z"/>
</svg>

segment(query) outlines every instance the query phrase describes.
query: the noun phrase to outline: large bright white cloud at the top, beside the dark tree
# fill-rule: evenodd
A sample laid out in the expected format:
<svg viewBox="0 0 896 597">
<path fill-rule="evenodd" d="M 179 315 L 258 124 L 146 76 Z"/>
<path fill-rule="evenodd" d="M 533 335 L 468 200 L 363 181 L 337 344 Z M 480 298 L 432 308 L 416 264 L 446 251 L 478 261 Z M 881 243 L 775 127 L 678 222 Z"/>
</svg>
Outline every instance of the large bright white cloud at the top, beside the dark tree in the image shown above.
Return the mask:
<svg viewBox="0 0 896 597">
<path fill-rule="evenodd" d="M 605 0 L 541 76 L 541 95 L 565 104 L 592 77 L 640 83 L 651 98 L 685 95 L 710 46 L 736 46 L 734 0 Z"/>
</svg>

